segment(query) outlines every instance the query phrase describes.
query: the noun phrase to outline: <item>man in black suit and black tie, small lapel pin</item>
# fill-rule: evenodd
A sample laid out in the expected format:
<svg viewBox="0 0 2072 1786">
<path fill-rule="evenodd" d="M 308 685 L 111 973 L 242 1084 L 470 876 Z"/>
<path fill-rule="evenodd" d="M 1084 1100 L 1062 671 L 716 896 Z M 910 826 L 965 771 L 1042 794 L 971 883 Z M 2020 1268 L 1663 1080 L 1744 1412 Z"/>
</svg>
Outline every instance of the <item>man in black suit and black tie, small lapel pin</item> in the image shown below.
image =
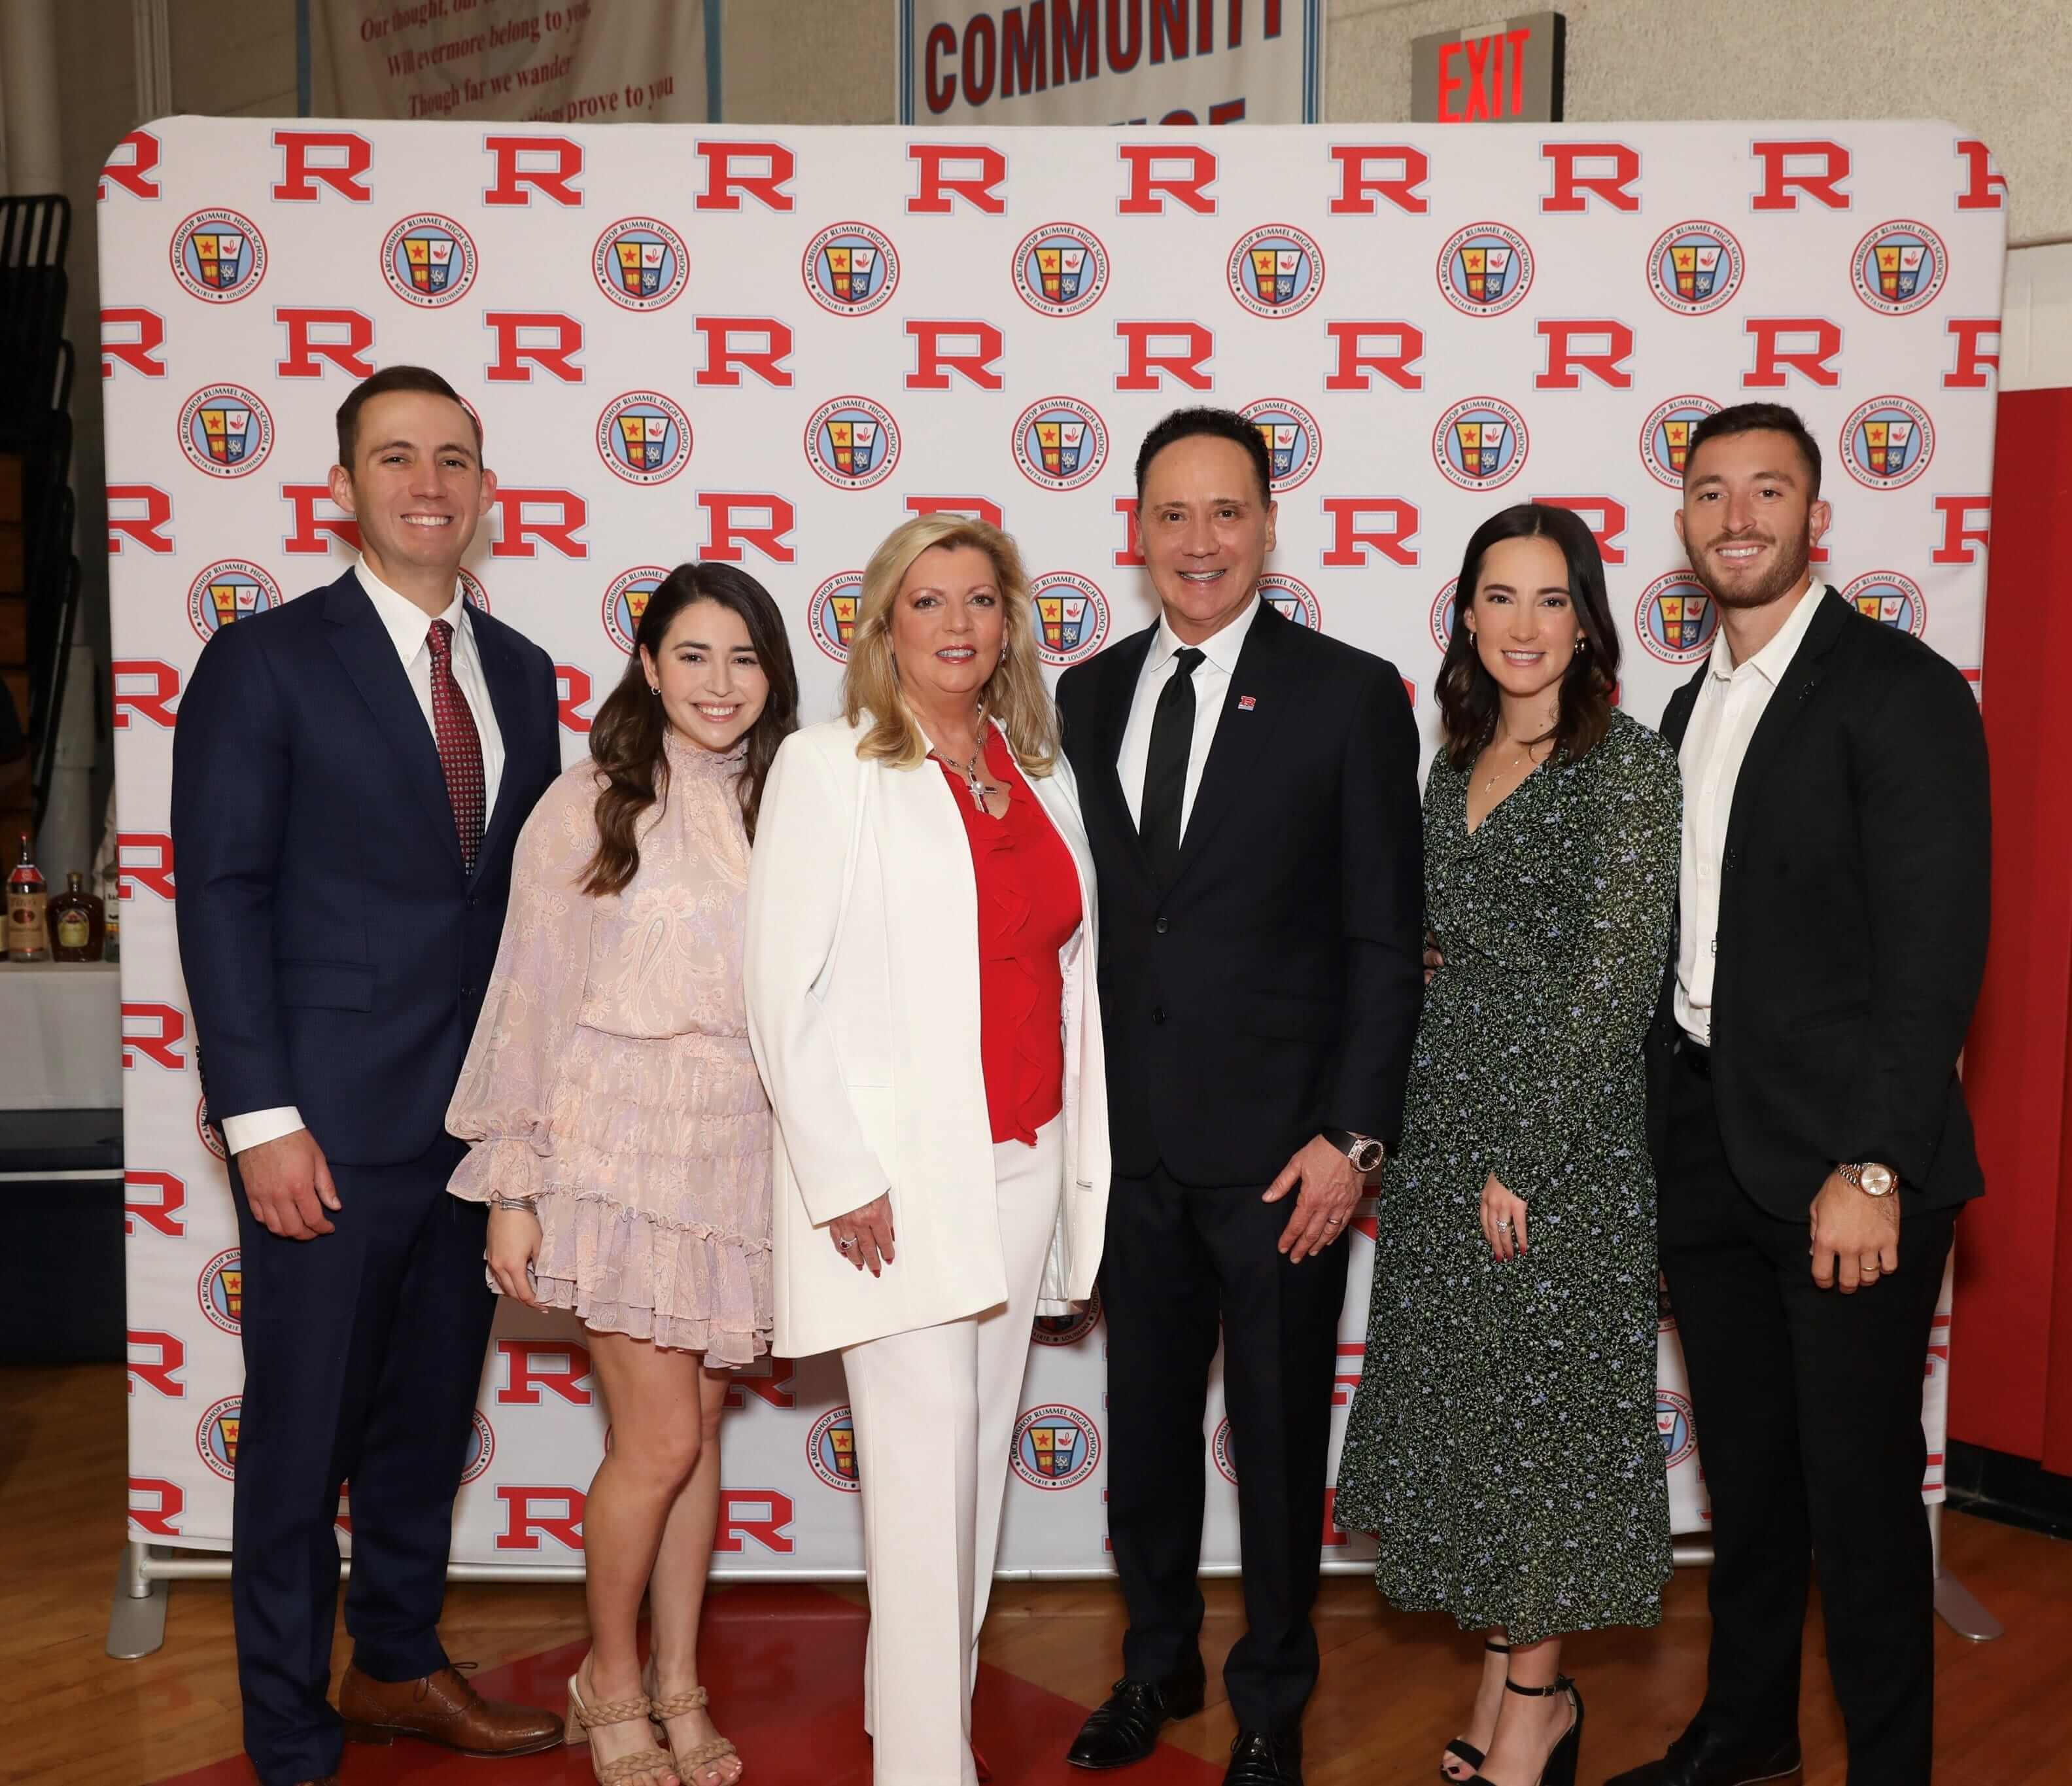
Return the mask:
<svg viewBox="0 0 2072 1786">
<path fill-rule="evenodd" d="M 1423 980 L 1417 731 L 1397 671 L 1260 597 L 1266 445 L 1179 410 L 1138 454 L 1156 626 L 1057 690 L 1100 881 L 1115 1185 L 1109 1533 L 1121 1767 L 1200 1709 L 1202 1413 L 1218 1332 L 1247 1633 L 1231 1782 L 1301 1780 L 1347 1225 L 1403 1121 Z M 1293 1206 L 1287 1198 L 1293 1193 Z"/>
</svg>

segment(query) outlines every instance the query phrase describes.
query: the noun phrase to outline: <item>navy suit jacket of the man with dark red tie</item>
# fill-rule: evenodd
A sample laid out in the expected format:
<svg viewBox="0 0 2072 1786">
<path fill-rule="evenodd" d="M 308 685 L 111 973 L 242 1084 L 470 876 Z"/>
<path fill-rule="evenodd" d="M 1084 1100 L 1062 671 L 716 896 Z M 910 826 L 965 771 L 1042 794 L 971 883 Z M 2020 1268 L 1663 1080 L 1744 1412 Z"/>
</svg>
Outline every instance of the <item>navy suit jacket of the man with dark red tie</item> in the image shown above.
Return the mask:
<svg viewBox="0 0 2072 1786">
<path fill-rule="evenodd" d="M 325 1156 L 445 1129 L 510 899 L 559 775 L 553 661 L 470 613 L 503 777 L 470 874 L 425 711 L 346 572 L 201 653 L 172 744 L 180 966 L 211 1117 L 294 1104 Z"/>
</svg>

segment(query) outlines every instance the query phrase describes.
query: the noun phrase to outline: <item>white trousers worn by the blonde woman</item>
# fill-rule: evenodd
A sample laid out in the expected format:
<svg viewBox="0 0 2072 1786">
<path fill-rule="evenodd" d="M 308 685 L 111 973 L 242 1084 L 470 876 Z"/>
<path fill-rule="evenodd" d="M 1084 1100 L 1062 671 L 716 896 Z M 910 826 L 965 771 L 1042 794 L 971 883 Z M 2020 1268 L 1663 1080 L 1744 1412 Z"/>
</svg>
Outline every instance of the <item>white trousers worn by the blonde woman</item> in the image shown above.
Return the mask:
<svg viewBox="0 0 2072 1786">
<path fill-rule="evenodd" d="M 1007 1457 L 1036 1291 L 1065 1181 L 1063 1121 L 997 1142 L 974 1185 L 1001 1225 L 1007 1301 L 966 1320 L 843 1347 L 864 1500 L 870 1645 L 864 1728 L 876 1786 L 976 1786 L 972 1680 L 1001 1548 Z M 893 1237 L 897 1251 L 897 1235 Z"/>
</svg>

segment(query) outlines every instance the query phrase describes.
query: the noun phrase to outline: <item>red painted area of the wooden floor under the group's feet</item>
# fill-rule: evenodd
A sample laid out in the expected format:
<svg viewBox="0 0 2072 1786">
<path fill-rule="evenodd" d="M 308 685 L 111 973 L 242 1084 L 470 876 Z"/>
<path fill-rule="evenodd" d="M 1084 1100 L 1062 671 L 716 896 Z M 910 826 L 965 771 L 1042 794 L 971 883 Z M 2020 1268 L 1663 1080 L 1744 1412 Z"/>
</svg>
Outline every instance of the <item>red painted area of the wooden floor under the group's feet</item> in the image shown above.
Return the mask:
<svg viewBox="0 0 2072 1786">
<path fill-rule="evenodd" d="M 474 1676 L 489 1699 L 568 1703 L 568 1676 L 582 1643 L 564 1643 Z M 771 1585 L 723 1593 L 707 1608 L 704 1684 L 719 1728 L 748 1763 L 742 1786 L 870 1786 L 870 1740 L 862 1722 L 864 1612 L 816 1587 Z M 1001 1668 L 982 1666 L 976 1738 L 995 1786 L 1088 1786 L 1065 1765 L 1065 1747 L 1086 1707 Z M 1129 1769 L 1129 1786 L 1212 1786 L 1222 1769 L 1173 1747 Z M 555 1749 L 516 1761 L 470 1761 L 429 1742 L 379 1749 L 348 1742 L 342 1786 L 591 1786 L 588 1749 Z M 251 1786 L 232 1755 L 157 1786 Z"/>
</svg>

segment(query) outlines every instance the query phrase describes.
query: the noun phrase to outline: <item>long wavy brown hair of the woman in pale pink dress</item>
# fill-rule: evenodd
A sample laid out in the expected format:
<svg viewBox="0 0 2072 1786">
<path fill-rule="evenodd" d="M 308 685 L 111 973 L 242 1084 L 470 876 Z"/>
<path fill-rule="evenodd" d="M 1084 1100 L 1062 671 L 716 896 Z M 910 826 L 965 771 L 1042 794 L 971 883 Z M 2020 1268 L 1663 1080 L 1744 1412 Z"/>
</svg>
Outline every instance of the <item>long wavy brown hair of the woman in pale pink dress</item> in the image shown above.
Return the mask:
<svg viewBox="0 0 2072 1786">
<path fill-rule="evenodd" d="M 640 845 L 634 829 L 640 814 L 669 794 L 669 756 L 663 738 L 669 717 L 649 688 L 638 646 L 661 663 L 661 644 L 675 617 L 694 601 L 713 601 L 742 617 L 756 661 L 769 678 L 769 700 L 748 727 L 748 754 L 736 777 L 742 802 L 742 825 L 748 841 L 756 839 L 756 812 L 762 806 L 762 783 L 769 779 L 777 746 L 798 729 L 798 669 L 792 665 L 792 640 L 771 593 L 746 570 L 731 564 L 680 564 L 649 597 L 640 626 L 634 628 L 634 651 L 626 659 L 620 686 L 605 696 L 591 725 L 591 760 L 603 777 L 597 789 L 597 854 L 582 870 L 582 891 L 591 895 L 620 893 L 640 868 Z"/>
</svg>

